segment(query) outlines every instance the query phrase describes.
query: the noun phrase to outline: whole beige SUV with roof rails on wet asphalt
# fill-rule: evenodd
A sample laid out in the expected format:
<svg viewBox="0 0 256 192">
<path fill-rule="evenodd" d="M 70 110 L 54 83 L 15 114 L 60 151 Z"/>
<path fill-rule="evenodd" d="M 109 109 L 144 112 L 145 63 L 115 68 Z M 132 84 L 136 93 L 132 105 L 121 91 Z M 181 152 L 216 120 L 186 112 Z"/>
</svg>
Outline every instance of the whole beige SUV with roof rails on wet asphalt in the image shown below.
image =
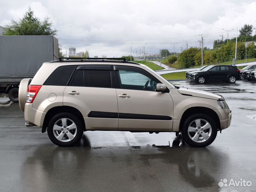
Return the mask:
<svg viewBox="0 0 256 192">
<path fill-rule="evenodd" d="M 203 147 L 231 121 L 222 96 L 174 86 L 125 59 L 44 63 L 21 81 L 18 98 L 26 126 L 47 130 L 59 146 L 78 143 L 86 130 L 118 130 L 181 132 L 186 143 Z"/>
</svg>

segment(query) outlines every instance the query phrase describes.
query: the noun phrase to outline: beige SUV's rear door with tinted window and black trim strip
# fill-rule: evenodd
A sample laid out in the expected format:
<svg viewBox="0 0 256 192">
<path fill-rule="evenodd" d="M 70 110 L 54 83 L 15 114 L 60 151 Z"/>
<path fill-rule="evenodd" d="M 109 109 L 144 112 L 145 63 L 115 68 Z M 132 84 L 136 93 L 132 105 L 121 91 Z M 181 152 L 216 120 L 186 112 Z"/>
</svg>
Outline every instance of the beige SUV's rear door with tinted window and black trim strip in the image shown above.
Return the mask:
<svg viewBox="0 0 256 192">
<path fill-rule="evenodd" d="M 78 109 L 87 130 L 117 130 L 113 65 L 80 65 L 64 90 L 63 105 Z"/>
</svg>

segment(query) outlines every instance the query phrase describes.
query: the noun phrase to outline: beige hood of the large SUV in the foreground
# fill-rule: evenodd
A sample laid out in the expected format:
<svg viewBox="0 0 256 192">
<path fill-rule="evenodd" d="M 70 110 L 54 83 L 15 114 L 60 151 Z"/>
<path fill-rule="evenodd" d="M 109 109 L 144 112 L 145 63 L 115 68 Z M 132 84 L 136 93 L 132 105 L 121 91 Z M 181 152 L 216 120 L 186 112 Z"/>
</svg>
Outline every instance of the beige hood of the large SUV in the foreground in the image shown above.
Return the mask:
<svg viewBox="0 0 256 192">
<path fill-rule="evenodd" d="M 222 97 L 220 95 L 216 95 L 207 91 L 200 91 L 200 90 L 190 89 L 186 87 L 180 87 L 180 89 L 178 89 L 178 92 L 180 92 L 180 94 L 182 95 L 188 95 L 193 97 L 203 97 L 203 98 L 209 98 L 214 100 L 218 100 L 219 98 Z"/>
</svg>

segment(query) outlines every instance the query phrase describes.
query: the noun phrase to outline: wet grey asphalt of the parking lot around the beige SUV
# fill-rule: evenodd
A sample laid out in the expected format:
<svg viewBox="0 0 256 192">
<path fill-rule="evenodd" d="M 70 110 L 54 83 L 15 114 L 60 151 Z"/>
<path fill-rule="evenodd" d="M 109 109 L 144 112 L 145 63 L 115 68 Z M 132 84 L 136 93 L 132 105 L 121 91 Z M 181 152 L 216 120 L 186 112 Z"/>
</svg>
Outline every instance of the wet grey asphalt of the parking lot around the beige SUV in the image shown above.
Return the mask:
<svg viewBox="0 0 256 192">
<path fill-rule="evenodd" d="M 0 98 L 0 191 L 256 191 L 256 82 L 173 83 L 225 97 L 231 126 L 208 147 L 175 133 L 87 131 L 62 148 L 25 127 L 18 103 Z M 224 178 L 252 186 L 219 187 Z"/>
</svg>

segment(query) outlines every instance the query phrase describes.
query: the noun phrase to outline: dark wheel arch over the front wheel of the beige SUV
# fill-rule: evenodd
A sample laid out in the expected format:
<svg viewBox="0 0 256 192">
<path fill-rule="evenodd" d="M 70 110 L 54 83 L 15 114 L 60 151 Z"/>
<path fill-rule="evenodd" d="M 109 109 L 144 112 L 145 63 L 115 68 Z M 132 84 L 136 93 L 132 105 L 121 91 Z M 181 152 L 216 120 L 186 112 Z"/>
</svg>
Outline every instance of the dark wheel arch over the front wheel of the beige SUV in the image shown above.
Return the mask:
<svg viewBox="0 0 256 192">
<path fill-rule="evenodd" d="M 189 117 L 192 114 L 197 114 L 197 113 L 204 113 L 204 114 L 208 114 L 210 117 L 212 117 L 214 119 L 214 121 L 217 124 L 217 128 L 218 130 L 220 130 L 220 119 L 218 114 L 213 111 L 210 108 L 207 107 L 191 107 L 188 108 L 181 117 L 181 121 L 180 121 L 180 126 L 179 126 L 179 132 L 181 132 L 181 128 L 183 126 L 183 123 L 185 122 L 186 118 Z"/>
</svg>

